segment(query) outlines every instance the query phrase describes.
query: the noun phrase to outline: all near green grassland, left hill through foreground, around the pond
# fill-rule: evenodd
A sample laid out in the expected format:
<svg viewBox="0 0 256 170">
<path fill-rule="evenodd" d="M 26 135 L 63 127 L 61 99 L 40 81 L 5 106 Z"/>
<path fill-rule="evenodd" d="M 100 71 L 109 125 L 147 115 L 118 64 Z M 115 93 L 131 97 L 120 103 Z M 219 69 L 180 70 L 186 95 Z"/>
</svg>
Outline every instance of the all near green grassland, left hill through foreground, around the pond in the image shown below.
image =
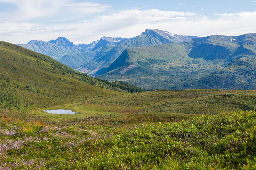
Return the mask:
<svg viewBox="0 0 256 170">
<path fill-rule="evenodd" d="M 0 169 L 255 169 L 255 90 L 118 92 L 31 53 L 0 43 Z"/>
</svg>

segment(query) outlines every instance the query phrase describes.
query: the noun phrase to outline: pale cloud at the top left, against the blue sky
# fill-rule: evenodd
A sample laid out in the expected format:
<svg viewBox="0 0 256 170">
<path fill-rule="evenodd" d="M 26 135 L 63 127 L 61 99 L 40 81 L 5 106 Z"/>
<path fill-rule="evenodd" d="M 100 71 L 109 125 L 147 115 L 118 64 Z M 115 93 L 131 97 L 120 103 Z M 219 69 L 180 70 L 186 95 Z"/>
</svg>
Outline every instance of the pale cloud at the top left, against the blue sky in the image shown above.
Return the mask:
<svg viewBox="0 0 256 170">
<path fill-rule="evenodd" d="M 13 21 L 27 21 L 33 18 L 51 17 L 58 18 L 57 20 L 66 20 L 64 16 L 68 13 L 99 13 L 107 11 L 111 8 L 110 5 L 100 3 L 72 3 L 70 0 L 0 0 L 2 2 L 10 2 L 17 6 L 18 9 L 8 16 Z M 74 15 L 68 15 L 68 18 L 76 18 Z"/>
</svg>

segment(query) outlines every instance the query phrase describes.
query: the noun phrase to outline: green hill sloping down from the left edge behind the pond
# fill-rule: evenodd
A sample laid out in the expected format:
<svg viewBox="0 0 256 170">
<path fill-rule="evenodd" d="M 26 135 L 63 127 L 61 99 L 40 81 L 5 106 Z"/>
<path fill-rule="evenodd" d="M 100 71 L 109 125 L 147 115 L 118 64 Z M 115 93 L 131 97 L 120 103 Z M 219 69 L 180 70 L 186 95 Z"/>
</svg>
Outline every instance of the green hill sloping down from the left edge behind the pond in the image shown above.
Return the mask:
<svg viewBox="0 0 256 170">
<path fill-rule="evenodd" d="M 98 93 L 114 94 L 107 89 L 121 92 L 143 91 L 127 83 L 111 83 L 89 77 L 47 55 L 3 41 L 0 46 L 0 67 L 2 92 L 16 96 L 12 97 L 11 103 L 3 102 L 4 108 L 18 108 L 27 103 L 30 107 L 47 107 L 74 100 L 76 96 L 86 97 L 88 92 L 96 96 Z"/>
</svg>

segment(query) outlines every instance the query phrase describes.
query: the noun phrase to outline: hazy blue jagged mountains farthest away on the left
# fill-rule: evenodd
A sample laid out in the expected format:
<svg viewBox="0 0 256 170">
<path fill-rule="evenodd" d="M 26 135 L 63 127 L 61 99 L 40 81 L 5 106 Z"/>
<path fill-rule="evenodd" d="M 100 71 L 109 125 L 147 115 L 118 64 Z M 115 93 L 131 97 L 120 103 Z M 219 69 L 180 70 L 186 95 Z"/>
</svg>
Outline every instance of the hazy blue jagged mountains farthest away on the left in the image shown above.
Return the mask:
<svg viewBox="0 0 256 170">
<path fill-rule="evenodd" d="M 121 37 L 101 37 L 100 40 L 93 41 L 90 44 L 75 45 L 68 39 L 59 37 L 48 42 L 31 40 L 27 44 L 17 45 L 49 55 L 69 67 L 76 68 L 90 62 L 105 46 L 118 45 L 126 40 L 126 38 Z"/>
</svg>

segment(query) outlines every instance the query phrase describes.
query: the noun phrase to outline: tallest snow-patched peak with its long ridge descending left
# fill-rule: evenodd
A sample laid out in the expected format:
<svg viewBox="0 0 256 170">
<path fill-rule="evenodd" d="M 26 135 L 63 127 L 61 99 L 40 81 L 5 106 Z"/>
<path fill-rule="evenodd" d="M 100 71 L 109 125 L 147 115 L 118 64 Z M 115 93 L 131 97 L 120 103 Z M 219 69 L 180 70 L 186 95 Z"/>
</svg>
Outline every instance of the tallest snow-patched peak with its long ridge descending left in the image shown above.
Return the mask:
<svg viewBox="0 0 256 170">
<path fill-rule="evenodd" d="M 96 56 L 91 62 L 76 70 L 86 70 L 85 73 L 90 76 L 101 75 L 126 48 L 145 47 L 170 42 L 178 43 L 182 41 L 191 41 L 192 38 L 194 38 L 194 36 L 183 36 L 172 34 L 167 31 L 149 29 L 137 37 L 121 42 L 119 45 L 108 51 L 105 55 L 100 57 Z"/>
</svg>

